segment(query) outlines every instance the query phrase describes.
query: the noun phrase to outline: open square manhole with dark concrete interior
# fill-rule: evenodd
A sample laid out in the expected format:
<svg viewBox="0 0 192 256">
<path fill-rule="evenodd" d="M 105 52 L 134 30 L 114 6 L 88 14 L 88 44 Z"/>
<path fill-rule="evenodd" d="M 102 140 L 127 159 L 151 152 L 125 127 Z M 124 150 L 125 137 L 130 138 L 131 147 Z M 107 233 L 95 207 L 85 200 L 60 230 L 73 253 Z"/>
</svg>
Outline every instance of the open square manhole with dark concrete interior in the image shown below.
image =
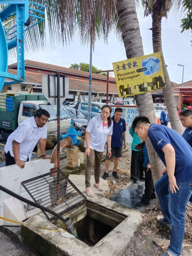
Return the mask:
<svg viewBox="0 0 192 256">
<path fill-rule="evenodd" d="M 127 217 L 90 201 L 67 213 L 67 216 L 76 226 L 78 239 L 89 246 L 98 243 Z M 62 221 L 57 219 L 53 223 L 65 229 Z"/>
</svg>

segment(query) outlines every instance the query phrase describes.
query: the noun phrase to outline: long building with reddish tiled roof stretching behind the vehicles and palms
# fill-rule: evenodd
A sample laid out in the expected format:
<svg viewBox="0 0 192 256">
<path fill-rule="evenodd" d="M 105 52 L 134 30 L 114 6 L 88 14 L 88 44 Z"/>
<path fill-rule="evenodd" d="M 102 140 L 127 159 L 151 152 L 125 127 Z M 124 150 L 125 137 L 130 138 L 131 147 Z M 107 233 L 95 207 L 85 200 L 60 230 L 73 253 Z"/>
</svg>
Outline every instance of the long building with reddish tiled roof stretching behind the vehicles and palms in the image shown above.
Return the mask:
<svg viewBox="0 0 192 256">
<path fill-rule="evenodd" d="M 9 65 L 9 72 L 16 73 L 17 63 Z M 8 89 L 14 89 L 17 93 L 31 92 L 33 94 L 42 93 L 42 76 L 44 74 L 61 73 L 67 76 L 69 79 L 69 95 L 68 101 L 76 101 L 80 95 L 82 100 L 88 99 L 89 91 L 89 72 L 65 68 L 62 66 L 52 65 L 49 63 L 37 62 L 34 60 L 25 60 L 25 76 L 26 80 L 23 83 L 12 85 L 4 88 L 5 92 L 11 92 Z M 184 88 L 192 88 L 192 80 L 181 84 L 177 84 L 171 81 L 173 93 L 175 96 L 176 104 L 178 104 L 179 92 Z M 25 91 L 26 90 L 26 91 Z M 92 95 L 99 96 L 101 101 L 106 100 L 107 91 L 107 77 L 100 74 L 92 73 Z M 188 92 L 188 91 L 186 91 Z M 163 102 L 163 92 L 161 90 L 153 91 L 152 97 L 154 102 Z M 116 98 L 116 100 L 122 101 L 122 98 L 118 97 L 115 78 L 109 77 L 109 99 Z"/>
</svg>

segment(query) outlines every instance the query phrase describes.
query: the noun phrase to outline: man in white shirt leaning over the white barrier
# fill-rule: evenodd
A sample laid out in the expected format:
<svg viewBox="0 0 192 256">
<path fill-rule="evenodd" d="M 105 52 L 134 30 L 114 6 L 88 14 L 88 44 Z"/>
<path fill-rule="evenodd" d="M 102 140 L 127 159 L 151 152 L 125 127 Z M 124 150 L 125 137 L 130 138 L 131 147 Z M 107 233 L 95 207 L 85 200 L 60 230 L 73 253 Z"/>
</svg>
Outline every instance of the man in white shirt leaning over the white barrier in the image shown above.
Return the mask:
<svg viewBox="0 0 192 256">
<path fill-rule="evenodd" d="M 17 164 L 24 168 L 25 162 L 30 161 L 34 147 L 39 141 L 41 157 L 46 157 L 47 121 L 50 115 L 45 109 L 38 109 L 36 114 L 19 124 L 6 142 L 4 151 L 6 166 Z"/>
</svg>

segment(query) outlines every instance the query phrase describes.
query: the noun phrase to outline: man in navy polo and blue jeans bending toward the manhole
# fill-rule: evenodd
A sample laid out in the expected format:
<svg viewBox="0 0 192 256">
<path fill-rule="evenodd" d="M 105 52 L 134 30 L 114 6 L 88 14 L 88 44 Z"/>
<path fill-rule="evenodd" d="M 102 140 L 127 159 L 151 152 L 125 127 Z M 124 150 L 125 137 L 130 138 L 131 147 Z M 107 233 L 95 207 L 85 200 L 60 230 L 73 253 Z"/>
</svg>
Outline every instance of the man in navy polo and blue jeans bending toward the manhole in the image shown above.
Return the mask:
<svg viewBox="0 0 192 256">
<path fill-rule="evenodd" d="M 150 124 L 146 116 L 137 116 L 133 128 L 143 141 L 149 137 L 166 166 L 155 184 L 163 214 L 163 218 L 157 218 L 158 222 L 171 230 L 168 252 L 162 256 L 181 256 L 186 205 L 192 194 L 192 148 L 178 132 Z"/>
</svg>

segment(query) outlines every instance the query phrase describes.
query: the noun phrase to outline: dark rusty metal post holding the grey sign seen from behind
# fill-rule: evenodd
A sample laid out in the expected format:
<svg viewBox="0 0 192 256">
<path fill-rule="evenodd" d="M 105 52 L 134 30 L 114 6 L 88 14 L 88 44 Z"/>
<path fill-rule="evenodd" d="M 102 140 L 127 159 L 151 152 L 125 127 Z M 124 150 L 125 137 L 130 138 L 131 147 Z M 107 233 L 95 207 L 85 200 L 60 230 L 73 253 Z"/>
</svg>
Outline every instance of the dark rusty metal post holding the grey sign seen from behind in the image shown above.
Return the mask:
<svg viewBox="0 0 192 256">
<path fill-rule="evenodd" d="M 57 170 L 60 169 L 60 73 L 57 73 Z"/>
</svg>

